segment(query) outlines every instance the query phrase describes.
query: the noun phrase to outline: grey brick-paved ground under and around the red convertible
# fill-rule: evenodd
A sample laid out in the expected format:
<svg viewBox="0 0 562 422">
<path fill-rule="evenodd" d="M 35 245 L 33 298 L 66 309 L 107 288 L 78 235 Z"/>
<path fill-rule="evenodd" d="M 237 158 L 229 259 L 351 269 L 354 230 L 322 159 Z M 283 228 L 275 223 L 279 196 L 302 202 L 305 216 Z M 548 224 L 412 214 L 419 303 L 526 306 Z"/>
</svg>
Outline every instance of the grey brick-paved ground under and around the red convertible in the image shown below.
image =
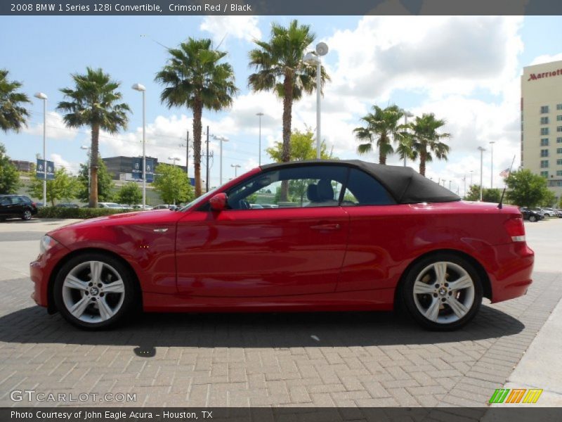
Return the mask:
<svg viewBox="0 0 562 422">
<path fill-rule="evenodd" d="M 562 220 L 525 225 L 541 250 L 535 231 L 561 229 Z M 31 243 L 32 252 L 23 249 Z M 0 253 L 29 262 L 37 241 L 14 240 L 0 226 Z M 103 404 L 482 407 L 562 298 L 562 275 L 544 265 L 528 295 L 483 305 L 452 333 L 384 312 L 145 314 L 115 331 L 88 333 L 34 306 L 29 277 L 0 280 L 0 406 L 91 406 L 100 404 L 91 393 L 110 392 L 136 394 L 136 401 Z M 18 390 L 87 399 L 15 402 Z"/>
</svg>

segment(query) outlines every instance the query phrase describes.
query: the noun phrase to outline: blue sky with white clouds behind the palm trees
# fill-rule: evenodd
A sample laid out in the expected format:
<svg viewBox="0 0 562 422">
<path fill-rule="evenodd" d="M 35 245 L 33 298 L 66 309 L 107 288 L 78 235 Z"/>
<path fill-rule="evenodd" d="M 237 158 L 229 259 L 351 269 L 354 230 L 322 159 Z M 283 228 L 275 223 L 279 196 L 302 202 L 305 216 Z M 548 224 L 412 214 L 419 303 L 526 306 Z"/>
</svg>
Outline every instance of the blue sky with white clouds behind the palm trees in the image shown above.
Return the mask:
<svg viewBox="0 0 562 422">
<path fill-rule="evenodd" d="M 240 88 L 231 110 L 204 112 L 211 133 L 227 136 L 223 173 L 234 174 L 258 162 L 258 118 L 263 112 L 265 148 L 281 136 L 282 104 L 272 94 L 252 94 L 247 88 L 247 54 L 252 39 L 268 39 L 271 21 L 288 23 L 293 17 L 0 17 L 0 68 L 23 82 L 22 90 L 34 101 L 29 127 L 19 134 L 0 133 L 8 155 L 34 160 L 42 148 L 42 104 L 34 92 L 48 95 L 47 155 L 75 172 L 86 160 L 80 146 L 89 143 L 86 127 L 66 129 L 55 104 L 63 98 L 58 89 L 70 87 L 70 73 L 86 66 L 100 67 L 122 82 L 124 101 L 133 113 L 129 128 L 116 136 L 103 135 L 100 153 L 136 155 L 141 152 L 141 95 L 135 82 L 147 87 L 148 155 L 170 162 L 181 158 L 185 131 L 191 132 L 191 112 L 168 110 L 159 103 L 162 90 L 155 73 L 167 58 L 166 49 L 187 37 L 210 37 L 228 51 Z M 434 112 L 447 121 L 453 134 L 448 162 L 433 162 L 429 176 L 452 180 L 462 193 L 462 177 L 473 170 L 479 176 L 477 146 L 495 144 L 495 174 L 518 157 L 518 98 L 521 68 L 530 63 L 562 60 L 562 18 L 551 17 L 362 17 L 305 16 L 318 41 L 330 52 L 325 64 L 332 83 L 322 103 L 322 138 L 340 158 L 357 158 L 351 129 L 360 124 L 372 104 L 398 106 L 416 115 Z M 15 36 L 15 34 L 17 34 Z M 315 128 L 315 96 L 295 105 L 294 127 Z M 211 169 L 211 185 L 218 184 L 218 146 Z M 377 155 L 363 156 L 377 160 Z M 485 158 L 485 178 L 490 158 Z M 265 152 L 262 162 L 268 162 Z M 192 162 L 191 162 L 192 163 Z M 398 163 L 391 158 L 390 163 Z M 417 168 L 417 163 L 413 164 Z M 192 172 L 191 172 L 192 174 Z M 497 186 L 499 186 L 499 177 Z M 447 185 L 448 186 L 448 185 Z"/>
</svg>

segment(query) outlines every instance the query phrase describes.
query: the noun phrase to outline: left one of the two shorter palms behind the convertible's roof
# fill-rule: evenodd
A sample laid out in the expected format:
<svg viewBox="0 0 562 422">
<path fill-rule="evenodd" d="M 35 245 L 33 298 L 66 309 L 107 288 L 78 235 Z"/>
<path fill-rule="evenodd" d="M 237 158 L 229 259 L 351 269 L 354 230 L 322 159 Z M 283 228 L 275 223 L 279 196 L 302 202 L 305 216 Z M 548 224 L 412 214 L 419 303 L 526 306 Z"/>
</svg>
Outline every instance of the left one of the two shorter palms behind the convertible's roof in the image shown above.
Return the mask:
<svg viewBox="0 0 562 422">
<path fill-rule="evenodd" d="M 391 141 L 399 143 L 398 152 L 400 153 L 400 158 L 404 158 L 407 155 L 407 144 L 403 142 L 404 132 L 400 132 L 405 129 L 403 124 L 398 124 L 400 119 L 404 116 L 403 110 L 398 106 L 388 106 L 386 108 L 380 108 L 379 106 L 373 106 L 372 110 L 374 113 L 368 113 L 366 116 L 361 117 L 361 120 L 366 123 L 365 127 L 355 127 L 353 133 L 358 141 L 362 141 L 357 147 L 357 151 L 360 154 L 370 153 L 373 149 L 373 143 L 377 144 L 379 148 L 379 164 L 386 164 L 386 156 L 392 154 L 394 149 L 392 148 Z"/>
</svg>

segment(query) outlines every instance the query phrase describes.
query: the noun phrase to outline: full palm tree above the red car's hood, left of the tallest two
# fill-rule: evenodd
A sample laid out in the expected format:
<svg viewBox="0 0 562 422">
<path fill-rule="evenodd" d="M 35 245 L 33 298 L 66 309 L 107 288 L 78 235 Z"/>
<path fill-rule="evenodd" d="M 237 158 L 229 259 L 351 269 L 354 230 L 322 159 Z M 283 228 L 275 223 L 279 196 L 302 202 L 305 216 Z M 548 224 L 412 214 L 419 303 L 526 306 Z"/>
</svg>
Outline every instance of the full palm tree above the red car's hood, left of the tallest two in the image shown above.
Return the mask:
<svg viewBox="0 0 562 422">
<path fill-rule="evenodd" d="M 120 83 L 111 79 L 103 70 L 86 68 L 86 75 L 75 73 L 74 89 L 63 88 L 60 91 L 69 101 L 60 101 L 57 110 L 66 113 L 64 121 L 67 127 L 89 126 L 91 128 L 91 191 L 90 207 L 98 207 L 98 156 L 100 129 L 116 134 L 126 129 L 130 112 L 126 103 L 117 103 L 122 94 L 117 91 Z"/>
</svg>

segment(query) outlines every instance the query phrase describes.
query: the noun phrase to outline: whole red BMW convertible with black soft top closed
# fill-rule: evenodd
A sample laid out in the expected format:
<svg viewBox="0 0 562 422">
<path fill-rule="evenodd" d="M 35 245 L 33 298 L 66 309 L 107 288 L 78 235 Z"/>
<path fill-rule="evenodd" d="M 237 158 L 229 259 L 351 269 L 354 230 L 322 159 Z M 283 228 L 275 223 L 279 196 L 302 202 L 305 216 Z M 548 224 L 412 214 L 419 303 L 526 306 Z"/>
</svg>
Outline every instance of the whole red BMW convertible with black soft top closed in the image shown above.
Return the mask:
<svg viewBox="0 0 562 422">
<path fill-rule="evenodd" d="M 254 203 L 262 207 L 252 207 Z M 80 328 L 146 312 L 406 309 L 426 328 L 524 295 L 534 252 L 516 207 L 470 203 L 408 167 L 264 165 L 174 212 L 44 236 L 33 298 Z"/>
</svg>

